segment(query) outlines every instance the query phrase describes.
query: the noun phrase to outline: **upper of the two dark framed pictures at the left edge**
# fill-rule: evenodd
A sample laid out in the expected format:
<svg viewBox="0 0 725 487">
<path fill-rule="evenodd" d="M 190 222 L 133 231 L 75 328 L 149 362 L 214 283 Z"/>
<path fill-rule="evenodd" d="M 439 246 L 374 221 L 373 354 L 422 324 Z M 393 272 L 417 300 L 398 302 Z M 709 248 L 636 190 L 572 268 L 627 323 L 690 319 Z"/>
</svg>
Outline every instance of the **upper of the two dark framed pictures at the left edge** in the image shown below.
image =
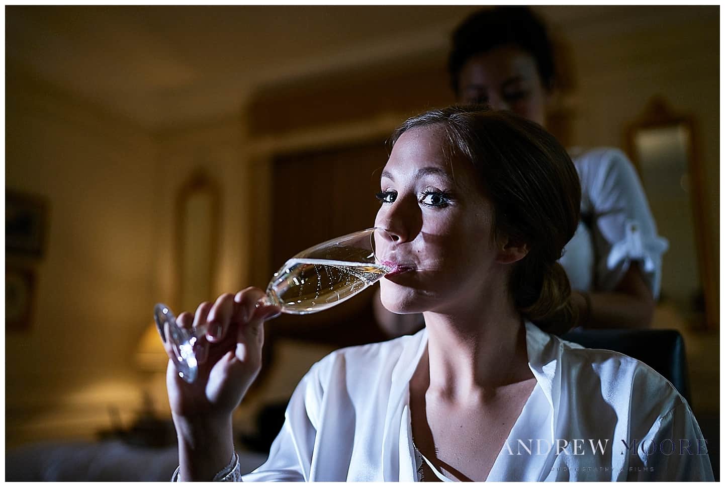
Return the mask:
<svg viewBox="0 0 725 487">
<path fill-rule="evenodd" d="M 48 202 L 45 198 L 6 189 L 5 251 L 41 257 L 45 250 Z"/>
</svg>

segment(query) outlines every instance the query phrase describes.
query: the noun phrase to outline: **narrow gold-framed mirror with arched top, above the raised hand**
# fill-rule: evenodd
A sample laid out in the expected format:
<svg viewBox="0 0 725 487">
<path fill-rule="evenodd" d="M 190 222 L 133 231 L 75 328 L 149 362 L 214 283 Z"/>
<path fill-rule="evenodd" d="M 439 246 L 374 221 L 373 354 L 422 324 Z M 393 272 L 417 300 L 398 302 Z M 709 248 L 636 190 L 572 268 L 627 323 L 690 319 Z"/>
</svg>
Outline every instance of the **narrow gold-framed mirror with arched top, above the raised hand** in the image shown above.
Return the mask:
<svg viewBox="0 0 725 487">
<path fill-rule="evenodd" d="M 179 309 L 195 310 L 214 297 L 218 254 L 219 192 L 203 171 L 196 171 L 176 199 L 176 258 Z"/>
</svg>

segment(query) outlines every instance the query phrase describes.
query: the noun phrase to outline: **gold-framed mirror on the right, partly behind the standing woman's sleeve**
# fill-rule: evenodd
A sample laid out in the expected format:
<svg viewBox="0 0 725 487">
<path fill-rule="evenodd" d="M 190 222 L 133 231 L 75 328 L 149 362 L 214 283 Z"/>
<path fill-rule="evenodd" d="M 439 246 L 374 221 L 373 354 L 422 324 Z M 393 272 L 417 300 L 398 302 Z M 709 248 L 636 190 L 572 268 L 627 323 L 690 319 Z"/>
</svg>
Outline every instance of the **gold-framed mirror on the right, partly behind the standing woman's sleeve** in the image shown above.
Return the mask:
<svg viewBox="0 0 725 487">
<path fill-rule="evenodd" d="M 658 232 L 670 244 L 662 259 L 660 302 L 674 306 L 693 328 L 715 328 L 716 277 L 692 119 L 657 97 L 630 124 L 627 144 Z"/>
</svg>

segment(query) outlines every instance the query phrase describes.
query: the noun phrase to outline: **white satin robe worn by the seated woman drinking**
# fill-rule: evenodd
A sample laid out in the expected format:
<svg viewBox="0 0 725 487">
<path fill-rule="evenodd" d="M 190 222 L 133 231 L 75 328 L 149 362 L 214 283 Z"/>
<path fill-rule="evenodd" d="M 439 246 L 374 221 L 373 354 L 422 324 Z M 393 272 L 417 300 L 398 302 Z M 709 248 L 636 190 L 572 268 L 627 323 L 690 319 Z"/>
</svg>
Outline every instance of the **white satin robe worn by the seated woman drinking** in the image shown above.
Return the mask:
<svg viewBox="0 0 725 487">
<path fill-rule="evenodd" d="M 314 364 L 291 397 L 267 462 L 244 481 L 418 480 L 408 385 L 427 345 L 423 329 Z M 689 405 L 653 369 L 529 322 L 526 347 L 537 385 L 487 480 L 713 480 Z M 603 454 L 592 454 L 589 440 Z"/>
</svg>

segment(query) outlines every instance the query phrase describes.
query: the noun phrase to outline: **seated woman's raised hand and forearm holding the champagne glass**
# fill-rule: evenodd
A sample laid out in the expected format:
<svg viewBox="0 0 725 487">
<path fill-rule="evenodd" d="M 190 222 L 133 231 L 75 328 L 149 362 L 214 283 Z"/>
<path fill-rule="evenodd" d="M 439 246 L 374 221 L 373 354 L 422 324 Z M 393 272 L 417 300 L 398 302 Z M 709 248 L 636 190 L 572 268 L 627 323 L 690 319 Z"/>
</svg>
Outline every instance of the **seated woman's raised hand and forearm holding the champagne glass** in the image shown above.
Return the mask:
<svg viewBox="0 0 725 487">
<path fill-rule="evenodd" d="M 184 328 L 208 324 L 207 343 L 197 352 L 196 380 L 188 384 L 181 379 L 171 360 L 166 372 L 179 441 L 179 480 L 212 480 L 232 457 L 231 415 L 262 367 L 264 322 L 280 312 L 277 306 L 257 308 L 264 295 L 248 287 L 236 295 L 220 295 L 213 304 L 200 304 L 194 316 L 182 313 L 177 318 Z M 170 343 L 165 348 L 173 359 Z"/>
</svg>

